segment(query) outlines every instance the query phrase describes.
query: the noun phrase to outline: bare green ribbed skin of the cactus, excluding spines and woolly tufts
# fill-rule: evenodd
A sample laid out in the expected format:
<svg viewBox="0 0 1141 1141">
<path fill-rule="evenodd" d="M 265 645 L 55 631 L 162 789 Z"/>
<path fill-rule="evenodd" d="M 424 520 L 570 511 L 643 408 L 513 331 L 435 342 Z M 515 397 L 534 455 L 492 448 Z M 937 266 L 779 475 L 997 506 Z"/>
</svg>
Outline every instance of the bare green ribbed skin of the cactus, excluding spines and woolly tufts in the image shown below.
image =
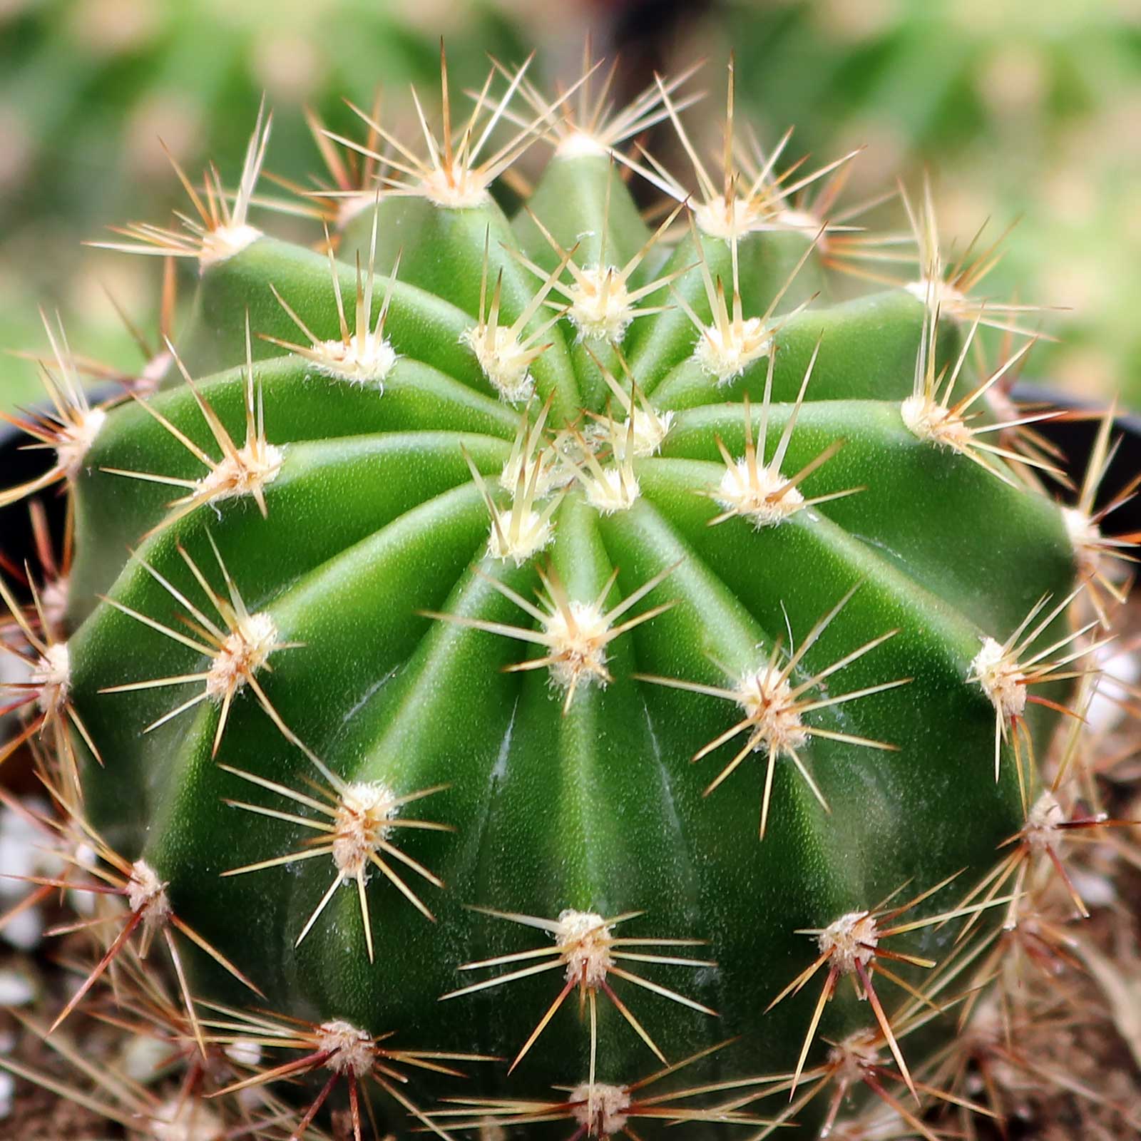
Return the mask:
<svg viewBox="0 0 1141 1141">
<path fill-rule="evenodd" d="M 580 265 L 598 256 L 608 177 L 608 258 L 618 261 L 637 251 L 648 232 L 604 161 L 553 160 L 533 200 L 559 241 L 570 244 L 588 234 L 576 254 Z M 311 810 L 218 767 L 211 759 L 216 703 L 143 733 L 196 686 L 100 693 L 205 669 L 185 646 L 95 604 L 97 594 L 107 593 L 173 626 L 185 613 L 124 556 L 127 545 L 164 518 L 170 488 L 100 469 L 196 479 L 202 467 L 135 406 L 110 418 L 78 484 L 73 617 L 82 625 L 71 642 L 73 693 L 105 761 L 103 768 L 86 767 L 91 819 L 119 851 L 141 856 L 157 869 L 178 915 L 253 978 L 266 993 L 265 1005 L 283 1013 L 346 1019 L 372 1034 L 396 1030 L 398 1046 L 510 1059 L 564 973 L 553 970 L 439 1003 L 446 992 L 493 973 L 458 972 L 461 963 L 549 939 L 466 905 L 545 919 L 568 907 L 606 916 L 645 912 L 618 933 L 705 939 L 706 948 L 659 953 L 718 963 L 715 969 L 625 965 L 714 1008 L 719 1018 L 615 981 L 665 1055 L 675 1061 L 743 1035 L 681 1084 L 788 1070 L 823 985 L 822 973 L 800 995 L 763 1013 L 817 955 L 814 940 L 796 930 L 869 908 L 907 883 L 897 897 L 901 901 L 965 869 L 922 912 L 954 906 L 993 866 L 996 845 L 1021 826 L 1012 753 L 1003 747 L 996 784 L 995 711 L 966 679 L 984 636 L 1005 640 L 1043 594 L 1060 598 L 1068 591 L 1074 556 L 1059 511 L 1046 497 L 1015 489 L 904 427 L 899 406 L 912 390 L 923 313 L 899 291 L 806 309 L 777 337 L 766 459 L 819 341 L 783 470 L 798 471 L 842 438 L 844 446 L 802 491 L 866 489 L 775 527 L 758 529 L 743 518 L 711 527 L 721 508 L 697 493 L 715 487 L 725 470 L 718 439 L 734 456 L 743 454 L 742 398 L 747 393 L 752 399 L 755 427 L 767 361 L 719 387 L 691 358 L 696 331 L 688 321 L 679 321 L 675 310 L 639 318 L 626 334 L 629 358 L 655 407 L 677 411 L 671 431 L 658 455 L 636 462 L 641 495 L 629 510 L 600 515 L 581 489 L 569 491 L 555 512 L 555 539 L 544 558 L 570 597 L 583 600 L 593 599 L 617 568 L 608 606 L 679 563 L 631 613 L 677 605 L 612 642 L 613 682 L 580 687 L 564 715 L 564 693 L 545 670 L 503 672 L 539 656 L 540 647 L 422 613 L 532 624 L 476 573 L 524 596 L 537 585 L 535 559 L 516 567 L 487 555 L 487 510 L 461 452 L 462 446 L 505 503 L 496 482 L 519 411 L 496 398 L 460 333 L 474 324 L 478 306 L 485 230 L 510 242 L 512 228 L 494 205 L 444 210 L 413 200 L 386 203 L 380 221 L 378 267 L 391 264 L 395 250 L 388 244 L 398 240 L 403 250 L 387 324 L 400 359 L 383 391 L 330 380 L 256 340 L 267 436 L 284 446 L 281 472 L 266 487 L 268 518 L 248 499 L 204 505 L 144 542 L 139 556 L 201 605 L 177 547 L 185 547 L 220 589 L 209 532 L 250 610 L 267 612 L 282 640 L 302 644 L 278 650 L 273 672 L 259 674 L 293 733 L 346 779 L 383 782 L 402 794 L 447 785 L 410 806 L 407 815 L 446 823 L 454 832 L 394 834 L 403 851 L 446 884 L 439 890 L 396 865 L 437 922 L 428 922 L 378 873 L 367 887 L 373 963 L 351 883 L 335 892 L 294 949 L 334 877 L 332 861 L 322 857 L 220 877 L 229 868 L 297 851 L 316 835 L 224 801 L 302 816 Z M 517 219 L 513 233 L 544 265 L 557 262 L 529 219 Z M 361 241 L 366 233 L 346 235 L 348 249 Z M 726 243 L 705 237 L 703 245 L 712 272 L 727 274 Z M 742 244 L 746 315 L 764 311 L 803 245 L 795 234 L 756 234 Z M 504 268 L 503 313 L 510 319 L 536 282 L 495 242 L 491 259 L 489 276 Z M 693 264 L 690 240 L 682 240 L 671 260 Z M 803 273 L 810 280 L 819 273 L 814 260 Z M 341 267 L 341 281 L 351 297 L 349 265 Z M 327 262 L 316 254 L 260 238 L 205 272 L 186 355 L 195 375 L 230 366 L 203 379 L 200 391 L 238 440 L 243 371 L 234 366 L 244 359 L 246 310 L 256 333 L 299 338 L 270 283 L 316 335 L 337 335 Z M 386 283 L 378 277 L 377 307 Z M 707 319 L 696 269 L 678 289 Z M 809 292 L 817 292 L 811 281 Z M 801 299 L 791 292 L 784 308 Z M 663 294 L 648 304 L 665 300 Z M 553 394 L 550 423 L 573 420 L 584 405 L 605 411 L 608 393 L 569 325 L 560 322 L 547 339 L 553 345 L 533 372 L 540 397 Z M 153 404 L 217 454 L 186 386 L 160 394 Z M 775 639 L 787 644 L 791 631 L 800 645 L 856 583 L 860 588 L 795 677 L 803 680 L 898 629 L 826 685 L 840 694 L 913 680 L 806 720 L 896 751 L 823 738 L 806 746 L 831 814 L 782 759 L 768 833 L 759 841 L 764 754 L 750 754 L 709 796 L 703 791 L 736 748 L 723 745 L 690 763 L 739 720 L 737 706 L 631 674 L 731 685 L 714 661 L 734 678 L 758 669 Z M 1031 707 L 1029 719 L 1041 744 L 1052 714 Z M 217 761 L 299 791 L 309 791 L 306 782 L 317 776 L 248 689 L 234 701 Z M 925 929 L 890 946 L 941 960 L 956 930 L 954 924 Z M 203 956 L 193 962 L 197 994 L 253 1001 Z M 914 972 L 911 977 L 919 981 Z M 903 998 L 888 982 L 881 994 L 889 1011 Z M 455 1093 L 543 1098 L 552 1084 L 583 1081 L 589 1033 L 577 1006 L 573 998 L 565 1004 L 510 1077 L 505 1063 L 478 1065 L 464 1067 L 466 1083 L 427 1075 L 408 1092 L 421 1104 Z M 857 1001 L 844 979 L 820 1035 L 839 1039 L 871 1022 L 868 1004 Z M 945 1041 L 954 1034 L 953 1015 L 937 1027 L 931 1034 Z M 826 1049 L 818 1041 L 810 1063 Z M 658 1066 L 605 997 L 598 1060 L 599 1077 L 615 1083 Z M 381 1108 L 391 1125 L 403 1127 L 398 1107 L 381 1099 Z M 806 1111 L 799 1119 L 811 1118 Z M 723 1126 L 686 1126 L 688 1138 L 725 1133 Z"/>
</svg>

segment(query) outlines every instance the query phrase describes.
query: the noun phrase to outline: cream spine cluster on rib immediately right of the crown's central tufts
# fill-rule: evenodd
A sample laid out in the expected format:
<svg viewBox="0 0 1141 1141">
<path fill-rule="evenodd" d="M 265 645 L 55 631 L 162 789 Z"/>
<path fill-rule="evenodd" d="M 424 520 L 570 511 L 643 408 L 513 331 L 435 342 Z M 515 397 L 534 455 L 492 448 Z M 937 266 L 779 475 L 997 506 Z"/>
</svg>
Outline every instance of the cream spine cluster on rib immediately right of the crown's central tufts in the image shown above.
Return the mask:
<svg viewBox="0 0 1141 1141">
<path fill-rule="evenodd" d="M 726 471 L 715 491 L 703 491 L 702 494 L 710 495 L 726 510 L 709 520 L 711 527 L 717 526 L 719 523 L 725 523 L 734 516 L 751 519 L 753 526 L 758 529 L 761 527 L 772 527 L 804 508 L 866 491 L 865 487 L 847 487 L 843 491 L 830 492 L 826 495 L 816 495 L 811 499 L 804 499 L 803 493 L 800 491 L 800 484 L 812 475 L 814 471 L 827 463 L 843 447 L 845 442 L 842 439 L 830 444 L 819 455 L 806 463 L 791 478 L 786 479 L 780 474 L 780 466 L 784 463 L 785 453 L 788 450 L 788 444 L 792 442 L 793 429 L 796 427 L 796 420 L 804 403 L 804 391 L 812 375 L 812 367 L 816 364 L 819 350 L 820 345 L 817 342 L 812 356 L 808 362 L 808 367 L 804 371 L 804 380 L 800 386 L 800 393 L 793 405 L 792 415 L 785 422 L 784 431 L 780 434 L 776 451 L 768 463 L 763 463 L 763 459 L 768 436 L 776 350 L 769 354 L 769 369 L 764 381 L 764 400 L 761 405 L 761 426 L 758 443 L 753 443 L 753 421 L 747 393 L 743 398 L 745 422 L 744 456 L 735 460 L 721 442 L 721 438 L 717 438 L 718 451 L 725 461 Z M 758 456 L 760 456 L 761 462 L 758 461 Z"/>
</svg>

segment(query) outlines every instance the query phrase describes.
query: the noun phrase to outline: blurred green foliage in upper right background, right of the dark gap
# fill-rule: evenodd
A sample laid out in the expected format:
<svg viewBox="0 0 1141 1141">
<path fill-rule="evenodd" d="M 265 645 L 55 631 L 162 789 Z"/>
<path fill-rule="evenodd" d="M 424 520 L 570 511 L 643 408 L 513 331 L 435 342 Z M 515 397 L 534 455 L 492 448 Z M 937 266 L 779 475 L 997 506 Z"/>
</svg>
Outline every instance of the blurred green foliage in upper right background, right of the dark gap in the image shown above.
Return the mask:
<svg viewBox="0 0 1141 1141">
<path fill-rule="evenodd" d="M 1029 371 L 1141 406 L 1138 0 L 730 0 L 718 23 L 763 140 L 866 145 L 851 200 L 928 168 L 960 248 L 1018 220 L 980 292 L 1067 307 Z"/>
</svg>

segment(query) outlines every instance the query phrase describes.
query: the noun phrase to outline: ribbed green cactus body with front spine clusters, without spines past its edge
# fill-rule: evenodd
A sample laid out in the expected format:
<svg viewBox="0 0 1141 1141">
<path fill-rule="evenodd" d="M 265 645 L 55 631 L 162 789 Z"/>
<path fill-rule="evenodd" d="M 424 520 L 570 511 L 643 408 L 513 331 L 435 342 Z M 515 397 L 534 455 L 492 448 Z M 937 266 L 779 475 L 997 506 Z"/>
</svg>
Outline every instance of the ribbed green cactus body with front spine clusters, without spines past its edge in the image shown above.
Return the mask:
<svg viewBox="0 0 1141 1141">
<path fill-rule="evenodd" d="M 954 907 L 1022 824 L 1006 730 L 1041 743 L 1053 715 L 979 654 L 1069 593 L 1061 515 L 923 436 L 916 361 L 957 398 L 969 331 L 905 290 L 830 302 L 826 230 L 679 220 L 638 260 L 625 181 L 567 147 L 533 215 L 421 191 L 341 235 L 347 337 L 324 254 L 259 234 L 202 258 L 193 387 L 116 408 L 87 452 L 67 646 L 102 758 L 88 816 L 265 1002 L 188 948 L 196 995 L 504 1059 L 418 1078 L 418 1104 L 548 1097 L 591 1066 L 621 1089 L 737 1035 L 702 1079 L 790 1071 L 818 984 L 768 1010 L 786 985 L 864 923 L 825 963 L 820 1034 L 874 1029 L 845 980 L 874 957 L 867 913 L 957 874 L 907 919 Z M 628 292 L 671 278 L 630 305 L 661 311 L 576 323 L 568 291 L 631 261 Z M 505 357 L 479 355 L 493 297 L 543 349 L 507 394 Z M 339 345 L 342 371 L 290 343 Z M 1039 614 L 1046 647 L 1063 617 Z M 956 933 L 887 945 L 938 963 Z M 592 1135 L 629 1109 L 610 1085 L 576 1118 Z"/>
</svg>

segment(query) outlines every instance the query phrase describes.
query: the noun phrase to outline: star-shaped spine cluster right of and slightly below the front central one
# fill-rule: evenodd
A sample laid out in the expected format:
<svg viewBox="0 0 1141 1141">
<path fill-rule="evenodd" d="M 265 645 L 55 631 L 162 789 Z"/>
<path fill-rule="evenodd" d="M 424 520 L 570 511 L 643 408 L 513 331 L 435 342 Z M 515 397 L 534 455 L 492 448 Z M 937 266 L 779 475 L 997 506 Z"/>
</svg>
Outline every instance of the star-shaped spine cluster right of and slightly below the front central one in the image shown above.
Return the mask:
<svg viewBox="0 0 1141 1141">
<path fill-rule="evenodd" d="M 768 661 L 760 667 L 755 670 L 747 670 L 744 674 L 742 674 L 733 689 L 728 689 L 722 686 L 707 686 L 696 681 L 685 681 L 680 678 L 664 678 L 646 673 L 634 674 L 634 677 L 641 681 L 649 681 L 657 686 L 666 686 L 671 689 L 685 689 L 694 694 L 705 694 L 710 697 L 720 697 L 723 701 L 734 702 L 741 706 L 745 717 L 725 733 L 714 737 L 707 745 L 699 748 L 694 754 L 693 760 L 699 761 L 703 756 L 707 756 L 721 745 L 733 741 L 734 737 L 737 737 L 743 733 L 748 734 L 745 746 L 739 750 L 733 760 L 713 779 L 709 787 L 706 787 L 704 795 L 707 796 L 734 772 L 734 770 L 751 752 L 763 751 L 767 754 L 768 763 L 764 775 L 764 792 L 761 798 L 761 823 L 759 828 L 759 836 L 761 840 L 764 839 L 764 832 L 768 824 L 769 801 L 772 793 L 772 774 L 779 758 L 787 756 L 793 764 L 795 764 L 796 771 L 811 790 L 812 795 L 817 799 L 820 807 L 825 811 L 830 811 L 828 803 L 824 799 L 824 794 L 812 779 L 812 775 L 809 772 L 799 753 L 799 750 L 808 743 L 810 737 L 823 737 L 828 741 L 845 742 L 850 745 L 861 745 L 867 748 L 895 751 L 897 747 L 881 741 L 871 741 L 866 737 L 857 737 L 851 734 L 837 733 L 832 729 L 825 729 L 820 726 L 809 725 L 803 720 L 803 714 L 840 705 L 844 702 L 856 701 L 860 697 L 867 697 L 872 694 L 882 693 L 887 689 L 895 689 L 897 686 L 905 686 L 912 680 L 911 678 L 900 678 L 896 681 L 887 681 L 876 686 L 867 686 L 863 689 L 852 690 L 847 694 L 839 694 L 834 697 L 820 697 L 816 699 L 809 697 L 809 699 L 804 701 L 801 698 L 803 695 L 808 694 L 809 690 L 819 686 L 819 683 L 826 678 L 830 678 L 833 673 L 836 673 L 844 669 L 844 666 L 850 665 L 857 658 L 860 658 L 865 654 L 875 649 L 876 646 L 885 642 L 889 638 L 893 638 L 899 632 L 898 630 L 889 630 L 887 633 L 880 634 L 877 638 L 873 638 L 858 649 L 852 650 L 850 654 L 845 654 L 843 657 L 833 662 L 831 665 L 820 670 L 818 673 L 804 681 L 794 685 L 792 680 L 792 673 L 800 664 L 804 654 L 808 653 L 817 639 L 819 639 L 820 634 L 823 634 L 828 625 L 831 625 L 833 618 L 835 618 L 844 606 L 848 605 L 848 600 L 859 589 L 859 585 L 860 584 L 857 583 L 852 586 L 852 589 L 849 590 L 848 593 L 844 594 L 844 597 L 826 615 L 824 615 L 824 617 L 820 618 L 811 630 L 809 630 L 808 636 L 800 646 L 800 649 L 791 654 L 784 665 L 777 665 L 783 649 L 783 639 L 778 638 L 772 646 L 772 652 L 769 655 Z"/>
</svg>

